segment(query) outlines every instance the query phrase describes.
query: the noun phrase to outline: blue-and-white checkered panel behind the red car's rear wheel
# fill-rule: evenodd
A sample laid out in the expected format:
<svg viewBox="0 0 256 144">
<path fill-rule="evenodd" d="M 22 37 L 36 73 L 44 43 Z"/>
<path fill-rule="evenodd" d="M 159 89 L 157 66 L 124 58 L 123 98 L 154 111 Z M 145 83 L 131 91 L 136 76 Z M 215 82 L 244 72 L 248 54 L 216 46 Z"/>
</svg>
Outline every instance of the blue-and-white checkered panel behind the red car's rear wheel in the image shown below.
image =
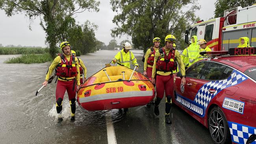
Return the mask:
<svg viewBox="0 0 256 144">
<path fill-rule="evenodd" d="M 246 144 L 246 141 L 252 134 L 256 134 L 256 127 L 245 126 L 235 122 L 228 122 L 232 142 Z M 254 140 L 251 144 L 256 144 Z"/>
</svg>

